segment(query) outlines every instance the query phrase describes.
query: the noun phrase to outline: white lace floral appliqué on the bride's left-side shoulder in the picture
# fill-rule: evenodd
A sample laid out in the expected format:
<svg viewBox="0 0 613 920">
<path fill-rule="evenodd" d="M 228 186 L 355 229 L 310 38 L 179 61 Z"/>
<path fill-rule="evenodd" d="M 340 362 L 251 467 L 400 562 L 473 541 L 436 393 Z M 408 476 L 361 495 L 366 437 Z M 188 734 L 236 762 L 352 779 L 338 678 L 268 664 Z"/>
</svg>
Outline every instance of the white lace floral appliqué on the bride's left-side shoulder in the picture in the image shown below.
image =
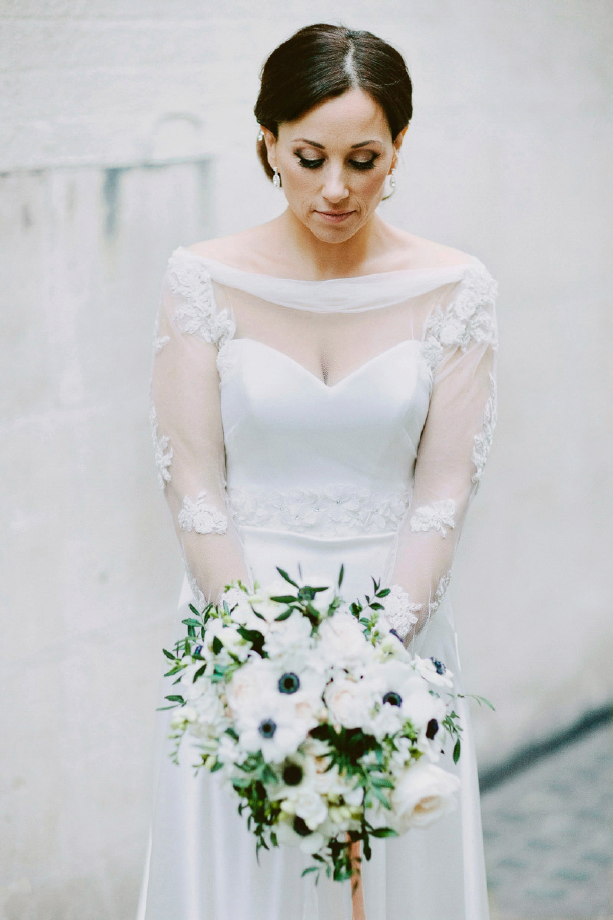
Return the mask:
<svg viewBox="0 0 613 920">
<path fill-rule="evenodd" d="M 168 283 L 172 293 L 181 299 L 173 317 L 176 327 L 216 346 L 217 368 L 220 379 L 224 379 L 231 366 L 226 346 L 233 339 L 236 324 L 228 310 L 220 310 L 215 304 L 204 263 L 187 249 L 176 249 L 168 259 Z"/>
</svg>

